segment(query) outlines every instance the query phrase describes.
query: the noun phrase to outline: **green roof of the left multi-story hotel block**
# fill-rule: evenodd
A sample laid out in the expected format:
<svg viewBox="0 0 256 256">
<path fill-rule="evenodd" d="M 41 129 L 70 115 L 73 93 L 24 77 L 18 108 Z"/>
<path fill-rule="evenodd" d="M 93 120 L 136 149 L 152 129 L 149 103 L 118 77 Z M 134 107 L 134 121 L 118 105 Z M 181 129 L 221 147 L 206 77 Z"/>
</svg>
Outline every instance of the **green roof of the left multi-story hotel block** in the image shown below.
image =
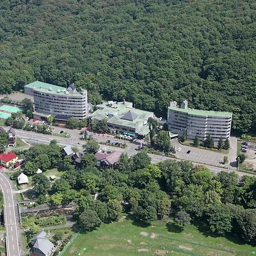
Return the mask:
<svg viewBox="0 0 256 256">
<path fill-rule="evenodd" d="M 53 84 L 47 84 L 46 82 L 40 82 L 40 81 L 35 81 L 31 82 L 30 84 L 25 85 L 25 87 L 28 88 L 34 88 L 35 90 L 38 90 L 39 92 L 46 92 L 50 94 L 58 94 L 58 95 L 72 95 L 75 97 L 82 97 L 82 94 L 80 92 L 75 92 L 75 93 L 68 93 L 65 94 L 65 87 L 53 85 Z M 51 88 L 51 90 L 49 90 Z"/>
</svg>

